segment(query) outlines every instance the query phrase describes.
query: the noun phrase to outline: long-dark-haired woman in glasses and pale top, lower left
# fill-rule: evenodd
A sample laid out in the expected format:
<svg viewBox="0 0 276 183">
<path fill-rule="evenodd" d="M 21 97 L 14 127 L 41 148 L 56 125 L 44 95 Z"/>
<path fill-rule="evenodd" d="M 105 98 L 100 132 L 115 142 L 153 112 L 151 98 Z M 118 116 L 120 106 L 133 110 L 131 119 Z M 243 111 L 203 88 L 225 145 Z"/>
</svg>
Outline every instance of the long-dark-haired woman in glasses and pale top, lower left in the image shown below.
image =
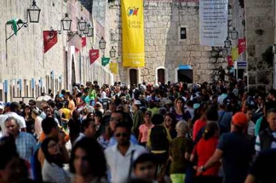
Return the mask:
<svg viewBox="0 0 276 183">
<path fill-rule="evenodd" d="M 45 156 L 42 166 L 43 182 L 70 182 L 70 177 L 63 169 L 63 157 L 59 151 L 59 142 L 55 138 L 46 138 L 41 144 Z"/>
</svg>

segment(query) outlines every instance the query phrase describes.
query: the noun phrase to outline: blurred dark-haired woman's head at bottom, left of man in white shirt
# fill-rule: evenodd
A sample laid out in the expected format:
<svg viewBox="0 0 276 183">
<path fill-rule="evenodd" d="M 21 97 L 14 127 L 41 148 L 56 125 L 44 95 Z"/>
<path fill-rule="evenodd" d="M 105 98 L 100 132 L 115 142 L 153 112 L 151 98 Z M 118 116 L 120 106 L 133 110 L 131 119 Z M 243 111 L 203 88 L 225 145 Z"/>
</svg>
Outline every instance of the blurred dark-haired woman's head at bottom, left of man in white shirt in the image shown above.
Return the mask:
<svg viewBox="0 0 276 183">
<path fill-rule="evenodd" d="M 72 148 L 70 171 L 75 174 L 73 183 L 107 182 L 106 158 L 97 140 L 82 138 Z"/>
</svg>

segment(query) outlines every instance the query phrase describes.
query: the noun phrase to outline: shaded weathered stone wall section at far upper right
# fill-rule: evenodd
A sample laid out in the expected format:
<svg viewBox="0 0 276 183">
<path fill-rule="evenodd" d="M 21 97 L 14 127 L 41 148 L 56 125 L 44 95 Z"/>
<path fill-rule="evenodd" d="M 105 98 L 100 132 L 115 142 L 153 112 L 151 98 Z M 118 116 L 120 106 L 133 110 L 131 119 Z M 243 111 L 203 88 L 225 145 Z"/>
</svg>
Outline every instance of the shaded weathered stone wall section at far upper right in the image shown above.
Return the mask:
<svg viewBox="0 0 276 183">
<path fill-rule="evenodd" d="M 262 86 L 269 89 L 273 84 L 272 67 L 268 67 L 262 59 L 262 54 L 274 43 L 273 6 L 273 0 L 245 1 L 248 74 L 251 87 Z"/>
</svg>

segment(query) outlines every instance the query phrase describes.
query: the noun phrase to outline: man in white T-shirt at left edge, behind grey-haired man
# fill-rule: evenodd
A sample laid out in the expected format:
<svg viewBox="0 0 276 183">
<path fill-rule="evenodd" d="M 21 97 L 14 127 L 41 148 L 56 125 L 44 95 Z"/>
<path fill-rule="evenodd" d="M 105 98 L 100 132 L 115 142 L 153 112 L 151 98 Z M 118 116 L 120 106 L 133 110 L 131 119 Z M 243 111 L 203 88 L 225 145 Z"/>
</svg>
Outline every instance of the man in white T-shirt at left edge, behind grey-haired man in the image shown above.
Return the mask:
<svg viewBox="0 0 276 183">
<path fill-rule="evenodd" d="M 0 116 L 0 127 L 1 127 L 2 134 L 6 134 L 5 122 L 6 122 L 6 119 L 10 117 L 15 118 L 17 120 L 19 124 L 19 129 L 21 131 L 26 131 L 26 122 L 24 118 L 17 114 L 17 111 L 19 111 L 19 109 L 20 109 L 19 103 L 13 102 L 10 104 L 10 111 Z"/>
</svg>

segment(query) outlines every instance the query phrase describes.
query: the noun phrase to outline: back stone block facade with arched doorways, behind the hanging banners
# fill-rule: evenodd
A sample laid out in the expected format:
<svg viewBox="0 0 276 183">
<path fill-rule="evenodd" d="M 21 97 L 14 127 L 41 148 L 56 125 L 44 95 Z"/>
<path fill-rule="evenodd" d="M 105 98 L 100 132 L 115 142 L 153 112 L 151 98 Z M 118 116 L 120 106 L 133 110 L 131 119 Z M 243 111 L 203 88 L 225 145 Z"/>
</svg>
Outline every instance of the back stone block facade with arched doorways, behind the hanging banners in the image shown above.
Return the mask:
<svg viewBox="0 0 276 183">
<path fill-rule="evenodd" d="M 99 8 L 96 7 L 99 3 L 93 1 L 92 13 L 95 19 L 108 22 L 106 26 L 109 26 L 110 32 L 106 36 L 109 36 L 110 45 L 115 47 L 118 54 L 119 74 L 114 76 L 115 80 L 127 85 L 142 81 L 152 84 L 158 81 L 166 83 L 168 80 L 177 82 L 179 75 L 184 73 L 190 76 L 192 82 L 201 83 L 212 79 L 213 67 L 227 67 L 224 59 L 219 58 L 215 62 L 210 58 L 211 47 L 199 45 L 198 0 L 145 0 L 146 65 L 141 68 L 123 67 L 120 1 L 105 2 L 101 1 L 104 11 L 97 16 L 99 9 L 98 12 L 93 11 Z M 185 39 L 181 39 L 181 28 L 186 31 Z"/>
</svg>

